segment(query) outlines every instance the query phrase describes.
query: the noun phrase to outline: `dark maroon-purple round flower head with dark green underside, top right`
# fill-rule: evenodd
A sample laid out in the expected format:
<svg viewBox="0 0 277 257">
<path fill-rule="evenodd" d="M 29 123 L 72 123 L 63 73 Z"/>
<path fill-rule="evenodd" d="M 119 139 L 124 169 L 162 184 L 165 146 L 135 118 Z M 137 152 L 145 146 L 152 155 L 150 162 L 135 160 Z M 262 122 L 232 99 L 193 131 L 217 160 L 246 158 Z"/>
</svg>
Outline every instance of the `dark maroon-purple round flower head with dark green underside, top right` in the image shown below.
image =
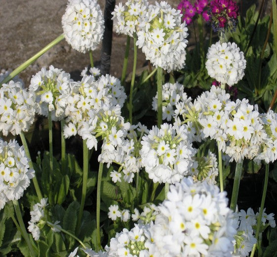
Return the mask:
<svg viewBox="0 0 277 257">
<path fill-rule="evenodd" d="M 224 32 L 229 29 L 235 31 L 238 16 L 237 2 L 234 0 L 212 0 L 208 15 L 208 23 L 214 32 Z"/>
</svg>

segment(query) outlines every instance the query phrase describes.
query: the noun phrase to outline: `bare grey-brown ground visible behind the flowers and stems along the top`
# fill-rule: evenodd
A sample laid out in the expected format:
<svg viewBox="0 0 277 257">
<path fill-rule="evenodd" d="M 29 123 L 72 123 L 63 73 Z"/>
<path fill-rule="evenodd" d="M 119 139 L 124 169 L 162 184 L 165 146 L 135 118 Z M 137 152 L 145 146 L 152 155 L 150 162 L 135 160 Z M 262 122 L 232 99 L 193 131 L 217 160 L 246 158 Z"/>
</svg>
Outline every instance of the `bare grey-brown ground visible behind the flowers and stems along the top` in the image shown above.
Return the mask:
<svg viewBox="0 0 277 257">
<path fill-rule="evenodd" d="M 168 0 L 174 7 L 177 7 L 179 1 Z M 104 10 L 105 0 L 98 0 L 98 2 Z M 243 0 L 243 8 L 246 9 L 254 2 L 258 5 L 258 1 Z M 117 0 L 118 3 L 119 0 Z M 15 69 L 62 34 L 61 17 L 65 12 L 66 4 L 67 0 L 0 0 L 0 67 Z M 266 9 L 268 10 L 269 6 Z M 125 36 L 114 33 L 111 62 L 111 74 L 114 76 L 121 76 L 124 50 Z M 96 66 L 100 60 L 100 52 L 101 45 L 93 52 Z M 132 61 L 132 51 L 130 51 L 130 61 Z M 137 67 L 142 67 L 144 62 L 144 54 L 139 51 Z M 28 86 L 33 74 L 41 67 L 48 67 L 51 64 L 78 76 L 79 71 L 89 64 L 89 56 L 72 49 L 63 40 L 23 71 L 20 77 Z M 131 66 L 130 63 L 127 72 L 131 72 Z"/>
</svg>

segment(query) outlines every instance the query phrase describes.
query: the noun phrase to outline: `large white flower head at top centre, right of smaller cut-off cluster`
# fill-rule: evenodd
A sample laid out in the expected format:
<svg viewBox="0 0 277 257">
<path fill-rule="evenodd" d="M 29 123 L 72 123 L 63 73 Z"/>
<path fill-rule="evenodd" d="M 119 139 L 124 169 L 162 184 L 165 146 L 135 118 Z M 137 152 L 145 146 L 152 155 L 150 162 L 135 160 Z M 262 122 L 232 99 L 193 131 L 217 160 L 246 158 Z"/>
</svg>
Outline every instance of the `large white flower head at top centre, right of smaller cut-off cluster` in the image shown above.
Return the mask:
<svg viewBox="0 0 277 257">
<path fill-rule="evenodd" d="M 156 1 L 139 20 L 136 44 L 147 60 L 168 72 L 185 66 L 188 28 L 181 17 L 166 1 Z"/>
</svg>

